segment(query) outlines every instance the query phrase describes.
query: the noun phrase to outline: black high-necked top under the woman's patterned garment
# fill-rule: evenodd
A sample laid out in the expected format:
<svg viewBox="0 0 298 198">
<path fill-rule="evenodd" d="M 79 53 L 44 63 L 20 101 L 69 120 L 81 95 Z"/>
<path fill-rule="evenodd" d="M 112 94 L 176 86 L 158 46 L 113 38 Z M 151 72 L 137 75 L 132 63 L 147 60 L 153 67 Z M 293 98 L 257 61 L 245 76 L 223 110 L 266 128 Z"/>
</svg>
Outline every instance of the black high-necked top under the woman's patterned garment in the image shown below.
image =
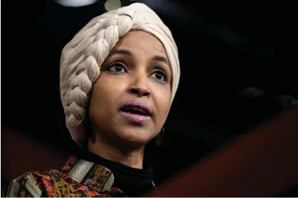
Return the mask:
<svg viewBox="0 0 298 198">
<path fill-rule="evenodd" d="M 110 169 L 115 177 L 112 187 L 121 189 L 127 197 L 142 197 L 145 192 L 149 192 L 154 186 L 153 166 L 146 159 L 143 169 L 137 169 L 122 165 L 120 163 L 106 160 L 90 152 L 89 150 L 80 150 L 79 157 Z"/>
</svg>

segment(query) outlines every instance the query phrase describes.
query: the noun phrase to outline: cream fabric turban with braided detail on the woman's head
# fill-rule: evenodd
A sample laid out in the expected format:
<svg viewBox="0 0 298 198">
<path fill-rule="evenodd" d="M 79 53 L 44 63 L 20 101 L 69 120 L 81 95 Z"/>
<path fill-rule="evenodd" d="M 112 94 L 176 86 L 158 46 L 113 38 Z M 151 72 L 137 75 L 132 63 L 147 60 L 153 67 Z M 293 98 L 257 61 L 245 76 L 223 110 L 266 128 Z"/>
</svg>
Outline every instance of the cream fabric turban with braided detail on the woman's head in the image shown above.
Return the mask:
<svg viewBox="0 0 298 198">
<path fill-rule="evenodd" d="M 129 31 L 146 31 L 161 40 L 172 72 L 171 101 L 179 84 L 178 50 L 171 31 L 159 16 L 144 4 L 131 4 L 93 18 L 63 48 L 60 60 L 60 97 L 66 126 L 73 140 L 85 140 L 83 121 L 92 84 L 100 75 L 100 66 L 119 38 Z"/>
</svg>

